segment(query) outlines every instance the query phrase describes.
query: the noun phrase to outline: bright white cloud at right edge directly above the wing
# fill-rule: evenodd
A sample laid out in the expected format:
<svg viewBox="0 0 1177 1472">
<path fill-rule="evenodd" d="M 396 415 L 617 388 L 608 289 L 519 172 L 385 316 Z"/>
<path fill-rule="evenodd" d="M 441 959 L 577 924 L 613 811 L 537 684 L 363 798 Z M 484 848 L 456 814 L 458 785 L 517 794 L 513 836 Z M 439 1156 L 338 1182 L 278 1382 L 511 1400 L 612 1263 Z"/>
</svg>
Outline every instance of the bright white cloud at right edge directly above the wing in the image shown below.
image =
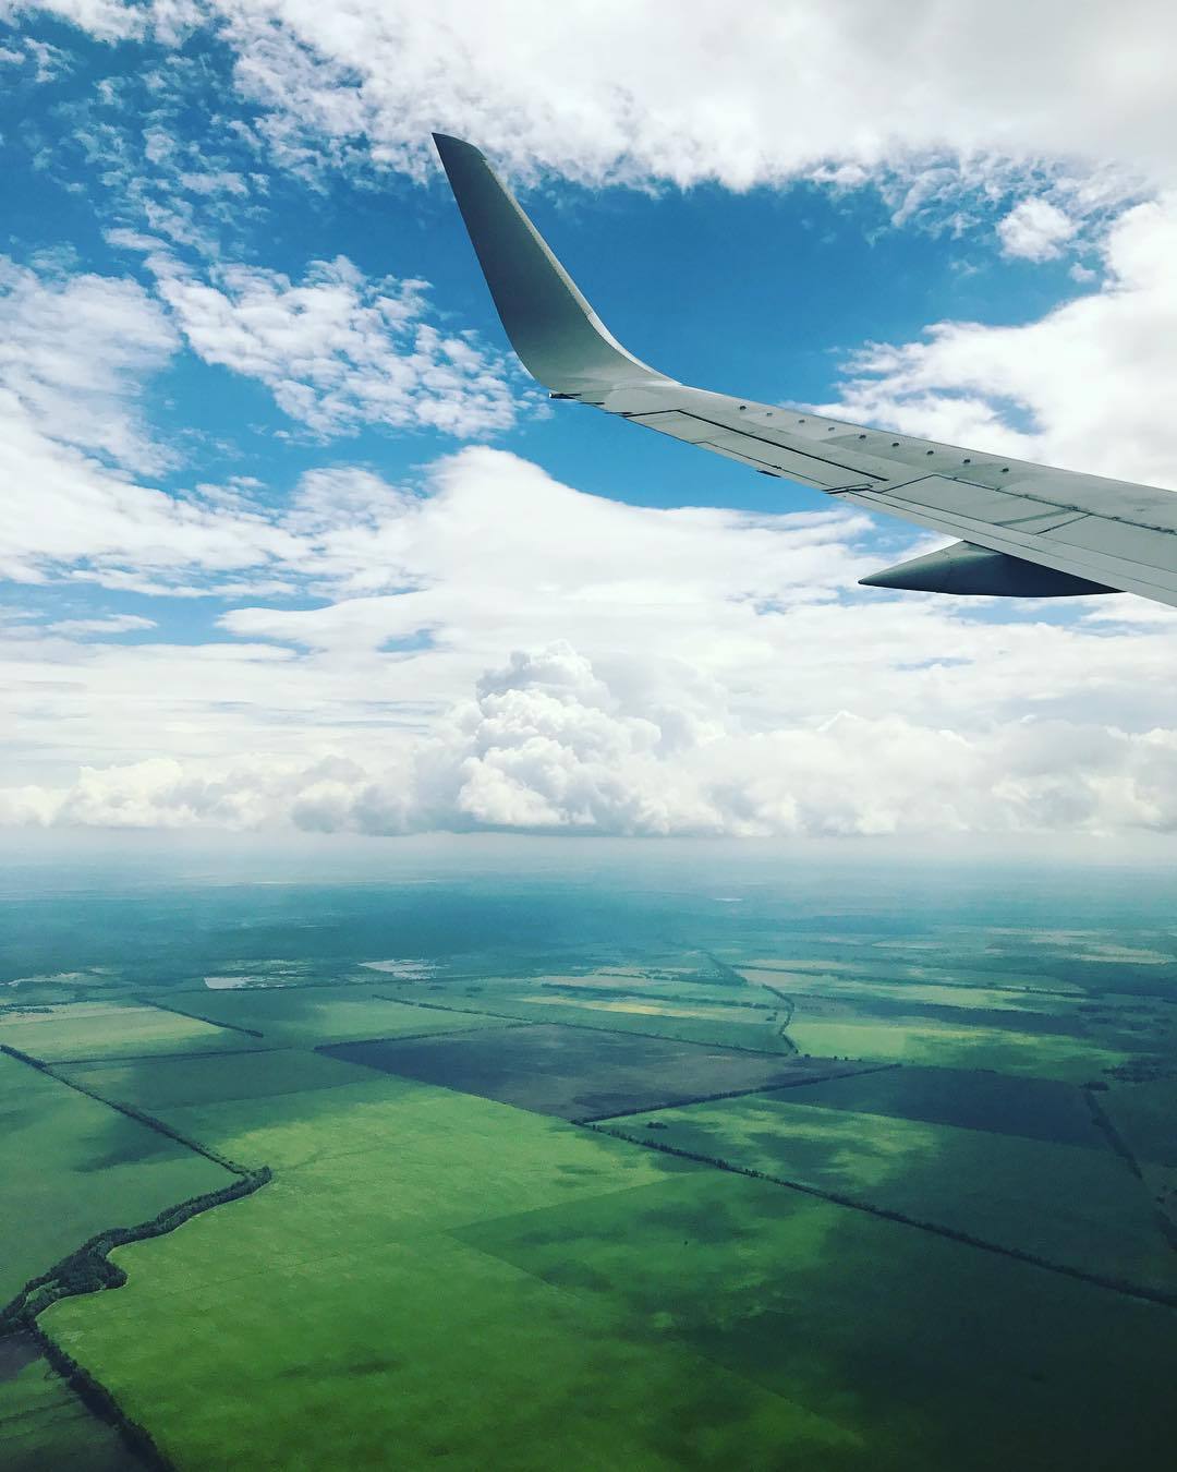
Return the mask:
<svg viewBox="0 0 1177 1472">
<path fill-rule="evenodd" d="M 939 322 L 849 362 L 839 412 L 1068 470 L 1177 480 L 1177 194 L 1123 213 L 1105 284 L 1018 327 Z M 1012 412 L 1011 412 L 1012 411 Z M 1021 420 L 1011 428 L 1011 420 Z"/>
</svg>

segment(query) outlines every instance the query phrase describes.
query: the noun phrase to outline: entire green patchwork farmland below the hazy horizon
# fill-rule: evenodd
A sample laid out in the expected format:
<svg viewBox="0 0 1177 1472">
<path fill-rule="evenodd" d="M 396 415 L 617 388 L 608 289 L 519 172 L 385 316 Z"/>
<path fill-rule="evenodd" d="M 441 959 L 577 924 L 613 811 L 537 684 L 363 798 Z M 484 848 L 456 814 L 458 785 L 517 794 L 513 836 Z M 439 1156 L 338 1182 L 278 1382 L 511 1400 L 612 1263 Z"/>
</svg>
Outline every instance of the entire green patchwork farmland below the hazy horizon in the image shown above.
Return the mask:
<svg viewBox="0 0 1177 1472">
<path fill-rule="evenodd" d="M 1164 880 L 40 883 L 6 1468 L 1165 1465 Z"/>
</svg>

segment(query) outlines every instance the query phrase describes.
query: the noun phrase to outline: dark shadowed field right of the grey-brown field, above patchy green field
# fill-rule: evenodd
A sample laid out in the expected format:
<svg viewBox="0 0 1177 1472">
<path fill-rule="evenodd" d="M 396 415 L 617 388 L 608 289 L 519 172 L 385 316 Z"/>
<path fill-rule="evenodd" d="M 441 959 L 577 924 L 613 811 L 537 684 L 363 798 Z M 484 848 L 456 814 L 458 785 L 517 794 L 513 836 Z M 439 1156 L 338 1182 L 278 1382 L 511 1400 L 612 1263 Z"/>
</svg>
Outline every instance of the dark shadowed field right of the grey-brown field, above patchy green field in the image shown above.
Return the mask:
<svg viewBox="0 0 1177 1472">
<path fill-rule="evenodd" d="M 1024 1135 L 1056 1145 L 1106 1145 L 1080 1088 L 1012 1073 L 906 1064 L 871 1069 L 830 1082 L 805 1083 L 789 1095 L 789 1103 Z"/>
</svg>

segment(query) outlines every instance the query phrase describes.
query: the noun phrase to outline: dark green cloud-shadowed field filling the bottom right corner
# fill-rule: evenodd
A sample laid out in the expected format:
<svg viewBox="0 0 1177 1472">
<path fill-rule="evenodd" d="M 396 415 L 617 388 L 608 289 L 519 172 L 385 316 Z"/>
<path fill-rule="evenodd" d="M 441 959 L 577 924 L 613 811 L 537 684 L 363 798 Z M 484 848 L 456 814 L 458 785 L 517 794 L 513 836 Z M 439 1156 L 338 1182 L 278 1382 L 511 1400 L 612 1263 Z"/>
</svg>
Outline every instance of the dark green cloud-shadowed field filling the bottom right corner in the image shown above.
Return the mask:
<svg viewBox="0 0 1177 1472">
<path fill-rule="evenodd" d="M 1167 1465 L 1177 1316 L 1151 1304 L 718 1173 L 461 1235 L 836 1422 L 821 1466 Z"/>
</svg>

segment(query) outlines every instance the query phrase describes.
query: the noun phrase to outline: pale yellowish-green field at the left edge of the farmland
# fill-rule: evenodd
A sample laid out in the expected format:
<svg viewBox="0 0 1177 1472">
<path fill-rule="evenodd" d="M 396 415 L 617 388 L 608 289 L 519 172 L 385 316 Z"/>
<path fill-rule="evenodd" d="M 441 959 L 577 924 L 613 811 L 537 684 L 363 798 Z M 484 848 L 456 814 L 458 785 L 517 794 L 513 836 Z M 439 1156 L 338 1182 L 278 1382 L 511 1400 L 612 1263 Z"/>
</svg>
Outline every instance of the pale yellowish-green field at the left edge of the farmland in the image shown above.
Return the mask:
<svg viewBox="0 0 1177 1472">
<path fill-rule="evenodd" d="M 77 1002 L 51 1014 L 0 1016 L 0 1042 L 50 1063 L 256 1047 L 256 1039 L 134 1002 Z"/>
</svg>

